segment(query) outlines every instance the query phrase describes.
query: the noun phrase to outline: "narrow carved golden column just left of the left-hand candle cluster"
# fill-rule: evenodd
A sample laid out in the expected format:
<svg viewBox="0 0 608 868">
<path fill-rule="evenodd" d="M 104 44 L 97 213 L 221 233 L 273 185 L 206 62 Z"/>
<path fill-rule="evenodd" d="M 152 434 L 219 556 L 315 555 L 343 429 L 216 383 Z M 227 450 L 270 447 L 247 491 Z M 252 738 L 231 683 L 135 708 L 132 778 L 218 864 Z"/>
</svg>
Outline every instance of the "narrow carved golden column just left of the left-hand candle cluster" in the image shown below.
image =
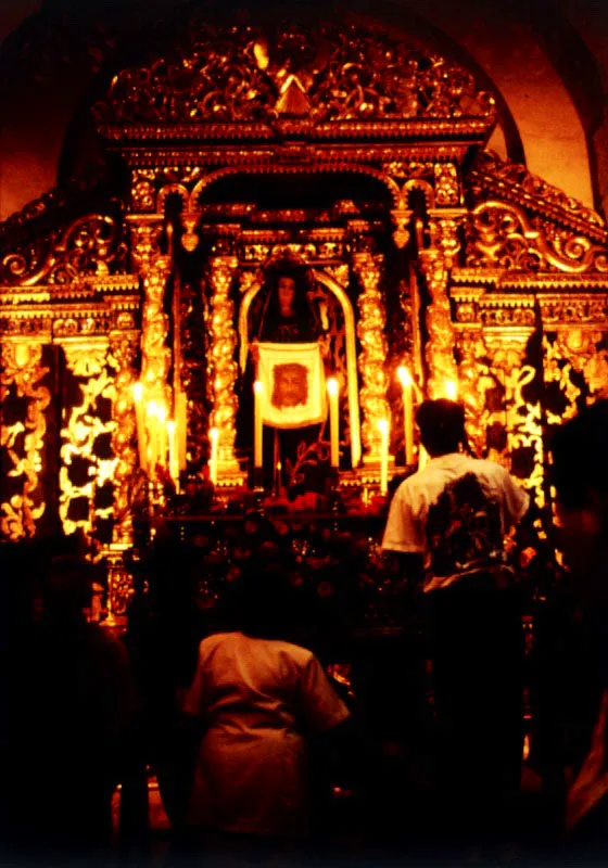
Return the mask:
<svg viewBox="0 0 608 868">
<path fill-rule="evenodd" d="M 132 542 L 132 514 L 129 489 L 137 468 L 135 446 L 135 401 L 132 386 L 136 382 L 134 361 L 137 356 L 138 333 L 113 332 L 110 335 L 110 362 L 116 371 L 112 404 L 112 450 L 116 459 L 114 469 L 114 528 L 113 542 Z"/>
</svg>

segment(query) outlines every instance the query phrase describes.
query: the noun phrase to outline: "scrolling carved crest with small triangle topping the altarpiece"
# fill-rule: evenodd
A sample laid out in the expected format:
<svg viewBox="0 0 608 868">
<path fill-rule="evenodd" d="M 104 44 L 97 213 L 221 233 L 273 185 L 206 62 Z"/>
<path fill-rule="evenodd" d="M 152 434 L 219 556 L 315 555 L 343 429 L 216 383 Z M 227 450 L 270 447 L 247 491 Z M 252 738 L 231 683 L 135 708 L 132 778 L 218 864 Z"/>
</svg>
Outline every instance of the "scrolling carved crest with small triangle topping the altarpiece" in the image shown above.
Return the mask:
<svg viewBox="0 0 608 868">
<path fill-rule="evenodd" d="M 98 123 L 493 117 L 472 76 L 378 30 L 193 25 L 189 44 L 124 69 Z"/>
</svg>

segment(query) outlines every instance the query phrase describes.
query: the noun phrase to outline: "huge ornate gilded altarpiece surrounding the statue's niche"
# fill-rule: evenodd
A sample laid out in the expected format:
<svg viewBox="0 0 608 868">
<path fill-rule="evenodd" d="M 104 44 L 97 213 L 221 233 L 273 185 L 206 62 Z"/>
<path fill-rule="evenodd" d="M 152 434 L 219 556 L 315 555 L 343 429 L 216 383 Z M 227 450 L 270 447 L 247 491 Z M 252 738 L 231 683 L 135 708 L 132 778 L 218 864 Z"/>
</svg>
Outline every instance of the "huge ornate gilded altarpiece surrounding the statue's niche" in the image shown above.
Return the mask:
<svg viewBox="0 0 608 868">
<path fill-rule="evenodd" d="M 334 24 L 187 33 L 93 106 L 128 189 L 75 216 L 54 191 L 0 228 L 2 533 L 97 534 L 123 612 L 132 385 L 185 394 L 189 461 L 213 424 L 219 483 L 242 485 L 239 322 L 283 256 L 342 311 L 343 484 L 378 482 L 390 414 L 400 463 L 406 363 L 431 397 L 458 381 L 476 448 L 547 507 L 550 426 L 608 383 L 601 217 L 484 151 L 492 95 L 419 47 Z"/>
</svg>

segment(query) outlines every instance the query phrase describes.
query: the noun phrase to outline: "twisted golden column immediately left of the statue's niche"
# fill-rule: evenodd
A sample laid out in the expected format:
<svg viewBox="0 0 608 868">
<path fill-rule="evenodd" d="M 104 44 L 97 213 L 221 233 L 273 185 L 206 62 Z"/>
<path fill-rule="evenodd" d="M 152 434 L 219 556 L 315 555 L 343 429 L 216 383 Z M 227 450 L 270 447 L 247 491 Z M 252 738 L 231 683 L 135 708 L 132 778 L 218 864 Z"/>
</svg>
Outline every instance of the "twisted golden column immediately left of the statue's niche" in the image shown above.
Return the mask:
<svg viewBox="0 0 608 868">
<path fill-rule="evenodd" d="M 237 330 L 235 304 L 230 286 L 239 265 L 236 256 L 213 256 L 208 261 L 211 295 L 211 360 L 210 382 L 213 399 L 211 426 L 219 432 L 218 484 L 242 485 L 245 474 L 241 472 L 235 455 L 237 439 L 237 375 L 235 360 Z"/>
</svg>

